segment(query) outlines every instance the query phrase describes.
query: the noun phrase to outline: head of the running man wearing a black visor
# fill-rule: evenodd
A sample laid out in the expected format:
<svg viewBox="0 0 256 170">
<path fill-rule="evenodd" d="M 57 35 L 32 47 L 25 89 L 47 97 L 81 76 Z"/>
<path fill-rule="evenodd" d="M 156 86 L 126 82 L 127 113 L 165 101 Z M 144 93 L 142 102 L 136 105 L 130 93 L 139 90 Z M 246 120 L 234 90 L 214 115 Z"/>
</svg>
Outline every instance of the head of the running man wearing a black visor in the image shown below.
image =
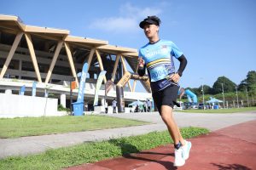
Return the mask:
<svg viewBox="0 0 256 170">
<path fill-rule="evenodd" d="M 141 21 L 140 27 L 144 30 L 144 33 L 148 39 L 158 37 L 160 19 L 157 16 L 148 16 Z"/>
</svg>

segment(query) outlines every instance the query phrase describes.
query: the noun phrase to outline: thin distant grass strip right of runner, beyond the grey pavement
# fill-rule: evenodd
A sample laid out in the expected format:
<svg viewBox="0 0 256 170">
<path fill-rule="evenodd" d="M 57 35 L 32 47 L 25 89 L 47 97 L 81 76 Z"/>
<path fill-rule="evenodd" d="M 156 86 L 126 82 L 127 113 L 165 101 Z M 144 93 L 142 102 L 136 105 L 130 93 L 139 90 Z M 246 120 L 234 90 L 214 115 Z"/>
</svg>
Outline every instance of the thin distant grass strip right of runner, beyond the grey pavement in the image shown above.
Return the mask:
<svg viewBox="0 0 256 170">
<path fill-rule="evenodd" d="M 190 109 L 190 110 L 175 111 L 175 112 L 189 112 L 189 113 L 236 113 L 236 112 L 245 112 L 245 111 L 255 111 L 256 112 L 256 107 L 243 107 L 243 108 L 231 108 L 231 109 L 211 109 L 211 110 Z"/>
</svg>

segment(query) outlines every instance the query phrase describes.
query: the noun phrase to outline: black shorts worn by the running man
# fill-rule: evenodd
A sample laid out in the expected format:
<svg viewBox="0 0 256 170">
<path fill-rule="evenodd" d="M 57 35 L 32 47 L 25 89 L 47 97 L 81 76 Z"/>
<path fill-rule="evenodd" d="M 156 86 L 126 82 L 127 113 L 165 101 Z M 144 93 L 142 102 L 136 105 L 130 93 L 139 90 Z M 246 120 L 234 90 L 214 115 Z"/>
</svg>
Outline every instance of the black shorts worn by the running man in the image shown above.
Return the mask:
<svg viewBox="0 0 256 170">
<path fill-rule="evenodd" d="M 172 84 L 171 86 L 152 94 L 154 104 L 159 112 L 161 112 L 161 105 L 169 105 L 173 108 L 173 106 L 177 103 L 178 88 L 178 86 Z"/>
</svg>

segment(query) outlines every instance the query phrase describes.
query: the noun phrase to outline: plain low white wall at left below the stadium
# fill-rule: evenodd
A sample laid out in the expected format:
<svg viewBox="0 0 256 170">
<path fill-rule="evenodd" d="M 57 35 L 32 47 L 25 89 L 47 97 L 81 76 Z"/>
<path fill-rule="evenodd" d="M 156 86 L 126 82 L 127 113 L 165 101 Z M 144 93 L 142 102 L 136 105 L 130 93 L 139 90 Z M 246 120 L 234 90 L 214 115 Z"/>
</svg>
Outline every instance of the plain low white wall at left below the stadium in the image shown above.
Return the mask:
<svg viewBox="0 0 256 170">
<path fill-rule="evenodd" d="M 58 99 L 0 94 L 0 117 L 58 116 Z"/>
</svg>

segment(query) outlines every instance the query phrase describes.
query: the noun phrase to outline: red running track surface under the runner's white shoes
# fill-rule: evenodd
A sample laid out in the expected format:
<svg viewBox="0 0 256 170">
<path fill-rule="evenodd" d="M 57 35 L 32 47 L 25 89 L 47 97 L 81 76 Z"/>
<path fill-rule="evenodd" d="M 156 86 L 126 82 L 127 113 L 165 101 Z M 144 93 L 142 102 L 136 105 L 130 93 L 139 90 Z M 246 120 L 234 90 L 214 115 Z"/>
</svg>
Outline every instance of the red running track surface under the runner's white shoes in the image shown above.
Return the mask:
<svg viewBox="0 0 256 170">
<path fill-rule="evenodd" d="M 130 156 L 69 167 L 67 170 L 256 169 L 255 120 L 225 127 L 190 141 L 192 149 L 183 167 L 173 167 L 173 146 L 168 144 Z"/>
</svg>

